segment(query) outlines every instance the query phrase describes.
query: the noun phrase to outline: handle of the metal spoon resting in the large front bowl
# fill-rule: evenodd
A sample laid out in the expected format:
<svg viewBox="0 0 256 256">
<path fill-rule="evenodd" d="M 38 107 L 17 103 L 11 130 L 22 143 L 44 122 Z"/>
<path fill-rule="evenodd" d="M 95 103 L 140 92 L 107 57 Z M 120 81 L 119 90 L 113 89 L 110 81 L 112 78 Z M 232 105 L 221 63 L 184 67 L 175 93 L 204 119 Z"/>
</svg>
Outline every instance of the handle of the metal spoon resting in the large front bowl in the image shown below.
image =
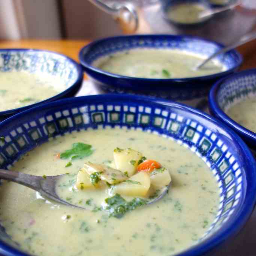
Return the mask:
<svg viewBox="0 0 256 256">
<path fill-rule="evenodd" d="M 0 179 L 13 181 L 39 191 L 43 177 L 0 169 Z"/>
</svg>

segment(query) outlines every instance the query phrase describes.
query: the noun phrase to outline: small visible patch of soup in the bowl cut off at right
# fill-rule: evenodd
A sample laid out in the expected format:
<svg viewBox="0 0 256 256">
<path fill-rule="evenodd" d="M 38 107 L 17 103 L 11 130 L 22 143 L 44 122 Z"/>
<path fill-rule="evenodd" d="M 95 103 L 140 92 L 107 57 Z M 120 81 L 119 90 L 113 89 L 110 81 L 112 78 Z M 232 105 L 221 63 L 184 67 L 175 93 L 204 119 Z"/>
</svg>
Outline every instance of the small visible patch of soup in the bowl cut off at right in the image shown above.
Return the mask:
<svg viewBox="0 0 256 256">
<path fill-rule="evenodd" d="M 256 132 L 256 99 L 243 100 L 228 109 L 227 115 L 252 132 Z"/>
</svg>

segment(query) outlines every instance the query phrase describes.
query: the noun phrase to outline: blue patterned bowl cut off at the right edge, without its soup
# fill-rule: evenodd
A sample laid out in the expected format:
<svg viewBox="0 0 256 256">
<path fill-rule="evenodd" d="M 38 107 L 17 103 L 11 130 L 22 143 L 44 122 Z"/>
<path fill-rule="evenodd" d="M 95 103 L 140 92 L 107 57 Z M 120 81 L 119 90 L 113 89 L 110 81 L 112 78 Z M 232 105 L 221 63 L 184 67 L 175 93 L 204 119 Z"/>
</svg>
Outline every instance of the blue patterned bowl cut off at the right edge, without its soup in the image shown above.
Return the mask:
<svg viewBox="0 0 256 256">
<path fill-rule="evenodd" d="M 248 97 L 256 97 L 256 69 L 238 72 L 214 84 L 209 94 L 209 110 L 211 114 L 240 135 L 252 149 L 256 150 L 256 133 L 241 126 L 225 114 L 231 106 Z"/>
</svg>

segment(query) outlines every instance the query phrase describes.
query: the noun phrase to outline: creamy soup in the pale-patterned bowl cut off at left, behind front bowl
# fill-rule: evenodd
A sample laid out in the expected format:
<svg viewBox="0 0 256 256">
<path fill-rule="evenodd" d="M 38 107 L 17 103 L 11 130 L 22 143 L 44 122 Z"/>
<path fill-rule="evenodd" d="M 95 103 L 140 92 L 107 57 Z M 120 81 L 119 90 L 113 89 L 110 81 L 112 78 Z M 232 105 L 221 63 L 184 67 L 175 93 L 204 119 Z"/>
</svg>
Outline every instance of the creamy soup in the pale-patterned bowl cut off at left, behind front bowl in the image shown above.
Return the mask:
<svg viewBox="0 0 256 256">
<path fill-rule="evenodd" d="M 56 77 L 53 85 L 52 76 L 47 74 L 2 72 L 0 81 L 0 111 L 31 105 L 63 90 L 63 81 Z"/>
</svg>

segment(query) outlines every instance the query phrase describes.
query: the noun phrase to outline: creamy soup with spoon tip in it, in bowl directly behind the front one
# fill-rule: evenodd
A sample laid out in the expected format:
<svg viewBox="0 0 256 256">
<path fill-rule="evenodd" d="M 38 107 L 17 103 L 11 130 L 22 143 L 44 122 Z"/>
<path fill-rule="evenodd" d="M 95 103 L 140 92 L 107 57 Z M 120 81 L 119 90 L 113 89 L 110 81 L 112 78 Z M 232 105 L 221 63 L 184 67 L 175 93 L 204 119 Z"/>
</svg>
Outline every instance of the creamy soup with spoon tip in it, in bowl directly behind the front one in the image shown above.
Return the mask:
<svg viewBox="0 0 256 256">
<path fill-rule="evenodd" d="M 110 73 L 138 78 L 186 78 L 225 70 L 224 66 L 214 61 L 196 70 L 195 67 L 203 60 L 200 55 L 178 50 L 135 49 L 109 55 L 94 65 Z"/>
</svg>

